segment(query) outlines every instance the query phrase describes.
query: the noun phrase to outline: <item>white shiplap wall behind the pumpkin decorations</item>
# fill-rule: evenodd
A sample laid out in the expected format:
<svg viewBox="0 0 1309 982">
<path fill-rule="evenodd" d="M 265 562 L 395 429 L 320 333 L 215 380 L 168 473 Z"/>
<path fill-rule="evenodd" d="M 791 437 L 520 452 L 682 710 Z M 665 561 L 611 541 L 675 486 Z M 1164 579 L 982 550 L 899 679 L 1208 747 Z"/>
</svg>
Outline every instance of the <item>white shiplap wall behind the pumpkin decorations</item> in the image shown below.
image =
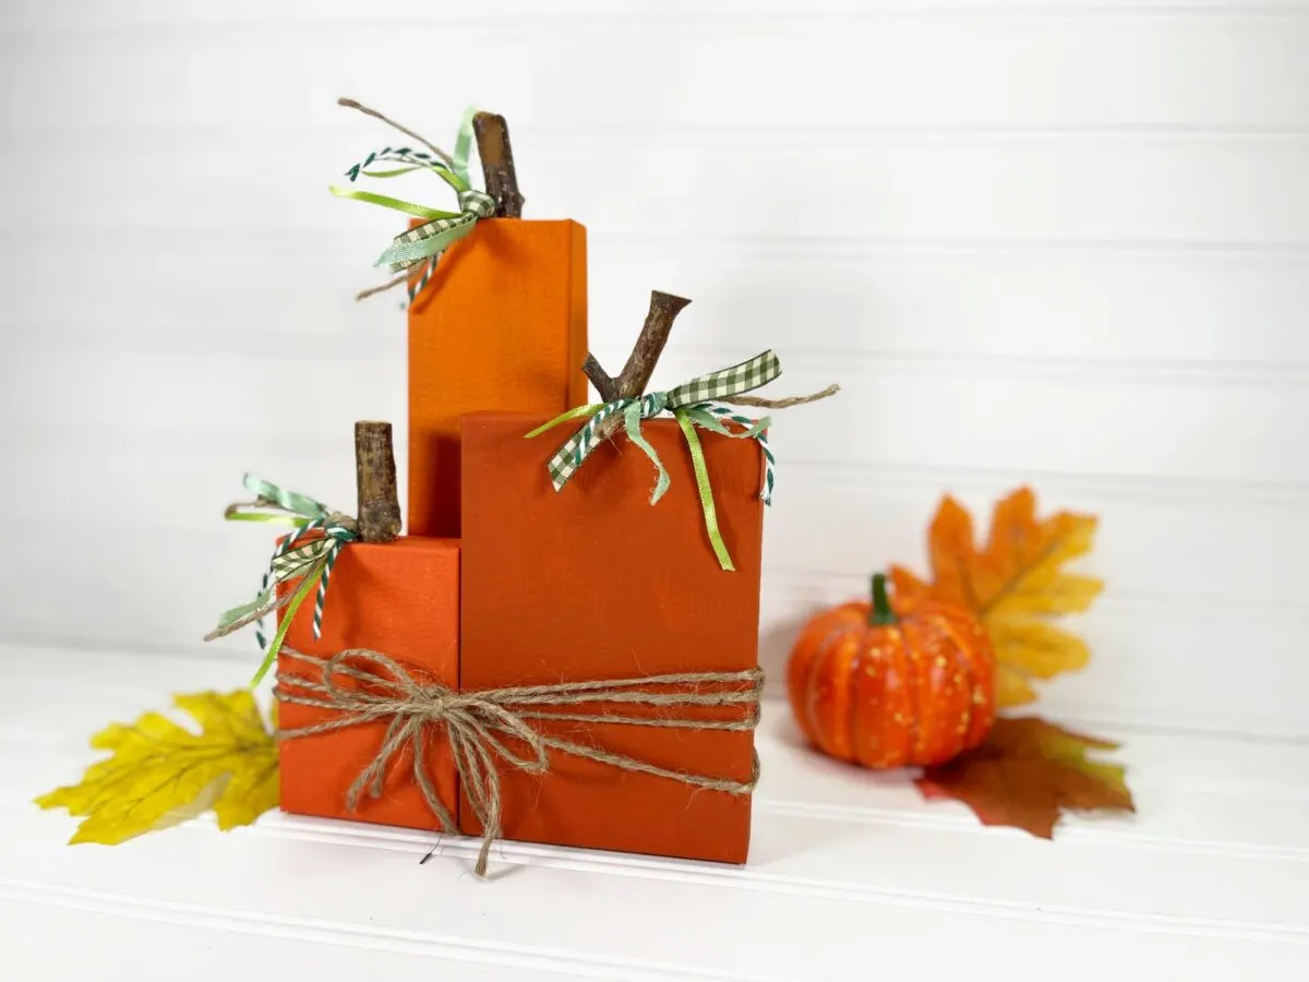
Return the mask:
<svg viewBox="0 0 1309 982">
<path fill-rule="evenodd" d="M 767 666 L 941 491 L 1030 481 L 1110 584 L 1050 714 L 1309 735 L 1306 0 L 8 0 L 4 636 L 194 648 L 266 560 L 241 473 L 348 504 L 350 423 L 403 420 L 342 94 L 508 117 L 602 361 L 658 287 L 656 381 L 843 384 L 775 431 Z"/>
</svg>

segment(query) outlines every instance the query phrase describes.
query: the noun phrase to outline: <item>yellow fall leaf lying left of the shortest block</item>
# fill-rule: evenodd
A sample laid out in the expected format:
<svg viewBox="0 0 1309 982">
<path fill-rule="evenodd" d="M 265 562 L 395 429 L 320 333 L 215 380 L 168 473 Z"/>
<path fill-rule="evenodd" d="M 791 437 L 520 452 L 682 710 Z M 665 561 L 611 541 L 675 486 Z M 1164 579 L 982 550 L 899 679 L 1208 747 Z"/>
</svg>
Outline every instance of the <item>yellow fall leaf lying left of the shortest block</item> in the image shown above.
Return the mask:
<svg viewBox="0 0 1309 982">
<path fill-rule="evenodd" d="M 92 765 L 81 783 L 37 799 L 84 817 L 69 845 L 115 846 L 209 808 L 228 830 L 278 807 L 278 748 L 249 690 L 174 695 L 173 703 L 199 733 L 157 712 L 131 725 L 111 723 L 90 745 L 113 755 Z"/>
</svg>

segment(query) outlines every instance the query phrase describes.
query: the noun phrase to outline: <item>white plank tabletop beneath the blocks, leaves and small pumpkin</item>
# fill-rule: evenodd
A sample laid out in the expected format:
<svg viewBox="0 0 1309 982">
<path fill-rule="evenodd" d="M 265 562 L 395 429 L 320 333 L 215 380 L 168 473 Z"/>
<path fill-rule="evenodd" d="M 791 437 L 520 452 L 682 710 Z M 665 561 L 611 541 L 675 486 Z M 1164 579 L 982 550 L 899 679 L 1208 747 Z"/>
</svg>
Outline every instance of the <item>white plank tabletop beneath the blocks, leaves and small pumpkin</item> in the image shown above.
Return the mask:
<svg viewBox="0 0 1309 982">
<path fill-rule="evenodd" d="M 230 657 L 0 646 L 0 977 L 38 979 L 1309 978 L 1309 748 L 1106 733 L 1134 818 L 1055 842 L 804 749 L 766 706 L 744 868 L 266 814 L 65 846 L 30 799 L 86 737 L 233 689 Z"/>
</svg>

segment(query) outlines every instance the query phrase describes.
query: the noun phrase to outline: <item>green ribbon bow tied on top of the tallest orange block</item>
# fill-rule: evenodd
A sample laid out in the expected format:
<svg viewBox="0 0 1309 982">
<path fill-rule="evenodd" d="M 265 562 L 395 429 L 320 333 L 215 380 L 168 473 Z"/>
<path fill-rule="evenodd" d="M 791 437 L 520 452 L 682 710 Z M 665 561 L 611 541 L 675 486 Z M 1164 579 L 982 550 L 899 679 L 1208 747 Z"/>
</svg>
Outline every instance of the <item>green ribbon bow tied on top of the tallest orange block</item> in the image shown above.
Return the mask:
<svg viewBox="0 0 1309 982">
<path fill-rule="evenodd" d="M 380 151 L 369 153 L 367 158 L 346 172 L 351 183 L 357 181 L 360 174 L 374 178 L 394 178 L 419 170 L 431 172 L 454 189 L 459 211 L 440 211 L 370 191 L 342 187 L 329 189 L 338 198 L 378 204 L 384 208 L 393 208 L 394 211 L 414 215 L 419 219 L 428 219 L 424 224 L 397 236 L 377 258 L 376 263 L 377 266 L 389 266 L 391 272 L 404 272 L 418 266 L 424 267 L 418 280 L 411 280 L 408 284 L 410 302 L 431 282 L 432 274 L 436 271 L 436 263 L 445 250 L 473 232 L 479 219 L 490 219 L 495 215 L 495 199 L 474 189 L 469 179 L 469 152 L 473 147 L 473 114 L 474 110 L 471 107 L 463 114 L 463 120 L 459 123 L 459 134 L 454 143 L 454 155 L 449 165 L 424 151 L 415 151 L 408 147 L 384 147 Z M 401 164 L 402 166 L 393 170 L 369 170 L 368 168 L 374 164 Z"/>
</svg>

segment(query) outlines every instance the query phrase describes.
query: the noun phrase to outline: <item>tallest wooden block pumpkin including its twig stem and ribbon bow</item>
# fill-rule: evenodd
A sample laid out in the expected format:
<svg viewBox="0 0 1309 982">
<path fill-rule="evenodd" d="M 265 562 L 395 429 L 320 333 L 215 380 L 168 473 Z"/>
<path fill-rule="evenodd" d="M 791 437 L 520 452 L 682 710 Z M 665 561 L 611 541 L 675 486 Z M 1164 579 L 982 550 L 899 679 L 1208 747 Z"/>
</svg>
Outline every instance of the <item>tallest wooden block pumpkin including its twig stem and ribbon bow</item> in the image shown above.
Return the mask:
<svg viewBox="0 0 1309 982">
<path fill-rule="evenodd" d="M 459 416 L 490 409 L 558 415 L 585 402 L 586 229 L 575 221 L 521 220 L 524 196 L 504 117 L 466 114 L 452 156 L 353 100 L 340 105 L 404 135 L 403 145 L 352 166 L 351 187 L 331 190 L 420 216 L 378 259 L 401 275 L 360 296 L 408 283 L 407 529 L 457 538 Z M 474 135 L 486 191 L 473 187 L 467 172 Z M 352 187 L 360 177 L 416 172 L 449 185 L 459 211 Z"/>
</svg>

